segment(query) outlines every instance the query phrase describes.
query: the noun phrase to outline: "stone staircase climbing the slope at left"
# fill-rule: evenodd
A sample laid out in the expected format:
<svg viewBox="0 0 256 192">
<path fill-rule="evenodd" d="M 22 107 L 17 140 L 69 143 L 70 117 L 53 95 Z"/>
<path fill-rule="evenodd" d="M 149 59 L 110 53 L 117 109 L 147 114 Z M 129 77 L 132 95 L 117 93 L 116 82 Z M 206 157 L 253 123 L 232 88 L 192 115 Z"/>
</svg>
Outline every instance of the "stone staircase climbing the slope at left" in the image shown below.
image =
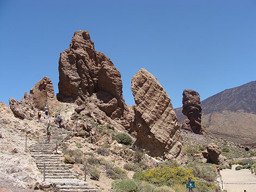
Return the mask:
<svg viewBox="0 0 256 192">
<path fill-rule="evenodd" d="M 70 170 L 72 165 L 64 164 L 58 154 L 56 154 L 56 143 L 64 141 L 71 134 L 70 131 L 52 127 L 51 141 L 45 139 L 33 145 L 30 149 L 35 163 L 41 172 L 44 172 L 45 164 L 45 181 L 51 183 L 59 192 L 100 192 L 88 182 L 78 179 L 78 174 Z"/>
</svg>

